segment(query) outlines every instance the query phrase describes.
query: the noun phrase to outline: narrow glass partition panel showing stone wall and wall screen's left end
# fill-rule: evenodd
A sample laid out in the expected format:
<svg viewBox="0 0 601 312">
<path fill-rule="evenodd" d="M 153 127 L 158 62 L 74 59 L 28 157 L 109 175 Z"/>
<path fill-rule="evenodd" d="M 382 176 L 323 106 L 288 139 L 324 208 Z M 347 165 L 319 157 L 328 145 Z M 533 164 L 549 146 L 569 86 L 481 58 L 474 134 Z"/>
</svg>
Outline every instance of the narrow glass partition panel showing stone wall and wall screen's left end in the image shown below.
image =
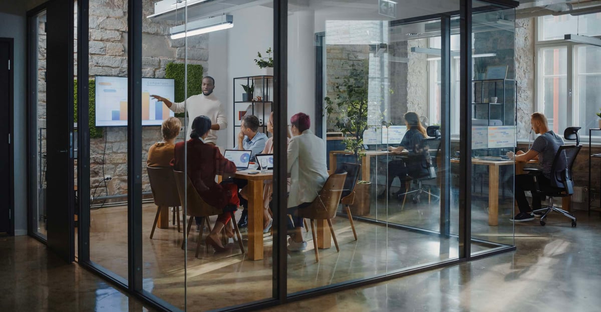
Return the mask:
<svg viewBox="0 0 601 312">
<path fill-rule="evenodd" d="M 90 260 L 127 280 L 127 1 L 89 5 Z"/>
</svg>

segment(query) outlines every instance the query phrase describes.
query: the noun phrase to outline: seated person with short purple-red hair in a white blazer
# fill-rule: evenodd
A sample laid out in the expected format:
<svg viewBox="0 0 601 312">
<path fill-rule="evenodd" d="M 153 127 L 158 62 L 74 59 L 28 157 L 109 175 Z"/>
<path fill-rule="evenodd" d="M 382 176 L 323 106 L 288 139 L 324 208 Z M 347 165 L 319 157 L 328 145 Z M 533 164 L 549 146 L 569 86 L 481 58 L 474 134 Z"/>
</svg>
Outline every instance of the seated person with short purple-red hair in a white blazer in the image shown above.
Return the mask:
<svg viewBox="0 0 601 312">
<path fill-rule="evenodd" d="M 323 139 L 314 135 L 309 127 L 311 120 L 307 114 L 299 112 L 290 118 L 292 138 L 288 143 L 288 173 L 290 174 L 290 195 L 288 212 L 294 224 L 288 221 L 288 231 L 293 231 L 288 239 L 288 250 L 305 250 L 307 242 L 302 238 L 303 218 L 296 210 L 308 207 L 328 180 L 326 146 Z"/>
</svg>

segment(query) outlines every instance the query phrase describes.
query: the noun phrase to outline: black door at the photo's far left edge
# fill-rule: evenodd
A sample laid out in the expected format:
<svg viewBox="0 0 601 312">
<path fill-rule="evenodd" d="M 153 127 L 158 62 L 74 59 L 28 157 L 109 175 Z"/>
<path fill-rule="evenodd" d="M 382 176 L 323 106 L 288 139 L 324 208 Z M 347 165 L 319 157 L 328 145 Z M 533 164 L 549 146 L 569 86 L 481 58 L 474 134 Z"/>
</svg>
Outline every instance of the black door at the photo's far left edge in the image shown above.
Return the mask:
<svg viewBox="0 0 601 312">
<path fill-rule="evenodd" d="M 13 115 L 13 79 L 11 58 L 13 55 L 13 39 L 0 38 L 0 94 L 8 100 L 0 101 L 0 234 L 13 234 L 14 217 L 11 216 L 12 162 L 10 154 L 10 125 Z"/>
</svg>

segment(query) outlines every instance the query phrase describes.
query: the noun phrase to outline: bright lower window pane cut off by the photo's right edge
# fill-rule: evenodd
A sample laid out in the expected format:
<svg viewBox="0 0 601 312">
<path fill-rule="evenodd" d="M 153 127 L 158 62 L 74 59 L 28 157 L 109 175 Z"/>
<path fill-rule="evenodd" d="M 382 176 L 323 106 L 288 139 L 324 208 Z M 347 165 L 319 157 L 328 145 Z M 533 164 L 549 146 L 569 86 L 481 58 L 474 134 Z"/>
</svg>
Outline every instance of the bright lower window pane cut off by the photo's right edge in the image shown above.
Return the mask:
<svg viewBox="0 0 601 312">
<path fill-rule="evenodd" d="M 601 103 L 601 47 L 576 47 L 576 124 L 582 127 L 582 135 L 588 135 L 588 129 L 599 127 L 596 113 Z"/>
</svg>

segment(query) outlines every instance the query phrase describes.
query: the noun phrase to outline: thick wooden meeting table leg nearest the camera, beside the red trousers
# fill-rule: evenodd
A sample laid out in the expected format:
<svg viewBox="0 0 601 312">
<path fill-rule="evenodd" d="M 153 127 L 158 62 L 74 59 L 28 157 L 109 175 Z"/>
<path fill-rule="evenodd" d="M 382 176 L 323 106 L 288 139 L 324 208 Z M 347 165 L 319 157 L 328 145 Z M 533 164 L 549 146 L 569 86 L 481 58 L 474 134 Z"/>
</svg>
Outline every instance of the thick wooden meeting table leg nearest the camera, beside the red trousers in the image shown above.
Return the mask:
<svg viewBox="0 0 601 312">
<path fill-rule="evenodd" d="M 263 259 L 263 181 L 249 180 L 248 258 Z"/>
</svg>

